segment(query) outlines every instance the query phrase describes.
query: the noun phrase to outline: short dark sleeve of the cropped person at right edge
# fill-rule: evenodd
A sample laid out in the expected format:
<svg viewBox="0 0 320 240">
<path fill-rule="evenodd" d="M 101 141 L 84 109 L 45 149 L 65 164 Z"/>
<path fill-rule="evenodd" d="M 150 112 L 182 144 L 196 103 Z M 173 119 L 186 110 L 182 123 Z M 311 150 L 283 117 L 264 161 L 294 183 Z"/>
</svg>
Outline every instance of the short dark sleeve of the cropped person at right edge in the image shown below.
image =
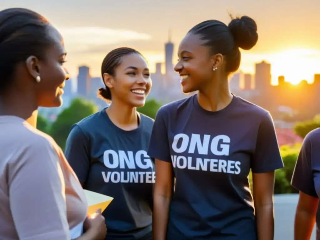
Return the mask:
<svg viewBox="0 0 320 240">
<path fill-rule="evenodd" d="M 311 140 L 308 134 L 303 140 L 292 174 L 291 185 L 309 196 L 318 197 L 313 181 L 311 158 Z"/>
</svg>

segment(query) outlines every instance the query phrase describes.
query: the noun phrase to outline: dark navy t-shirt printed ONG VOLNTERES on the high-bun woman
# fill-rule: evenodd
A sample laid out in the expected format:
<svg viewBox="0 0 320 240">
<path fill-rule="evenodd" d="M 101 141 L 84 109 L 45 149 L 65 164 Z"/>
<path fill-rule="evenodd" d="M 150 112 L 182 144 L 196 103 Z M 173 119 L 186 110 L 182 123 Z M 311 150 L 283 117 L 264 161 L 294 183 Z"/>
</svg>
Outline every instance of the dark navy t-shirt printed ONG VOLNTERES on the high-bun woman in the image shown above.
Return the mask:
<svg viewBox="0 0 320 240">
<path fill-rule="evenodd" d="M 167 240 L 255 240 L 250 169 L 282 168 L 269 113 L 240 97 L 207 111 L 197 95 L 161 107 L 148 148 L 172 163 L 176 178 Z"/>
</svg>

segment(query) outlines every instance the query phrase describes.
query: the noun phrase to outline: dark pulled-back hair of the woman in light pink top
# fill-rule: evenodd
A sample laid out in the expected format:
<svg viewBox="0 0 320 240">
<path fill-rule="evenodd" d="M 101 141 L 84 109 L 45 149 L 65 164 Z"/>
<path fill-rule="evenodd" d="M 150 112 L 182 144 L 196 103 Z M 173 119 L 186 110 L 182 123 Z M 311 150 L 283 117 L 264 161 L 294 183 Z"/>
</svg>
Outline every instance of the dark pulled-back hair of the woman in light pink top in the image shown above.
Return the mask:
<svg viewBox="0 0 320 240">
<path fill-rule="evenodd" d="M 12 84 L 15 67 L 29 56 L 44 60 L 53 40 L 50 23 L 39 13 L 24 8 L 0 11 L 0 93 Z"/>
</svg>

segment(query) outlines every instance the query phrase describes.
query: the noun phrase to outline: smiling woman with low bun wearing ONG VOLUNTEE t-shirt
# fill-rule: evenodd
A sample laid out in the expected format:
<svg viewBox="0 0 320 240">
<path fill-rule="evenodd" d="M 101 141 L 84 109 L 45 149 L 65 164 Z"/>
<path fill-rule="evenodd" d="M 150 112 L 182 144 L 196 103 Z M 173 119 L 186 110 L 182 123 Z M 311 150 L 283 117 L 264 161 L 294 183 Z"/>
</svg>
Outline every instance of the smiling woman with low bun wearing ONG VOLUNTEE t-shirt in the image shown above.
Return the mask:
<svg viewBox="0 0 320 240">
<path fill-rule="evenodd" d="M 147 155 L 154 120 L 137 112 L 151 89 L 140 52 L 121 47 L 104 58 L 100 96 L 110 106 L 72 126 L 67 159 L 87 190 L 114 197 L 102 212 L 106 239 L 152 239 L 154 160 Z"/>
</svg>

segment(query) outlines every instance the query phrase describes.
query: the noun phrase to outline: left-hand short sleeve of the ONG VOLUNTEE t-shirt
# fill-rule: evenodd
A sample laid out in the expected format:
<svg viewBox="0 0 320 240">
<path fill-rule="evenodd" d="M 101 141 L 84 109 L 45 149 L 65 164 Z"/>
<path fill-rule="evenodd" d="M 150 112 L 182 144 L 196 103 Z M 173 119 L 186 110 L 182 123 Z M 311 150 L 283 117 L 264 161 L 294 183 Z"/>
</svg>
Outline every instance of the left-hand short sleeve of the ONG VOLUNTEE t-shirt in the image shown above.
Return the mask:
<svg viewBox="0 0 320 240">
<path fill-rule="evenodd" d="M 73 125 L 66 141 L 65 156 L 81 183 L 85 182 L 90 170 L 88 140 L 78 125 Z"/>
</svg>

